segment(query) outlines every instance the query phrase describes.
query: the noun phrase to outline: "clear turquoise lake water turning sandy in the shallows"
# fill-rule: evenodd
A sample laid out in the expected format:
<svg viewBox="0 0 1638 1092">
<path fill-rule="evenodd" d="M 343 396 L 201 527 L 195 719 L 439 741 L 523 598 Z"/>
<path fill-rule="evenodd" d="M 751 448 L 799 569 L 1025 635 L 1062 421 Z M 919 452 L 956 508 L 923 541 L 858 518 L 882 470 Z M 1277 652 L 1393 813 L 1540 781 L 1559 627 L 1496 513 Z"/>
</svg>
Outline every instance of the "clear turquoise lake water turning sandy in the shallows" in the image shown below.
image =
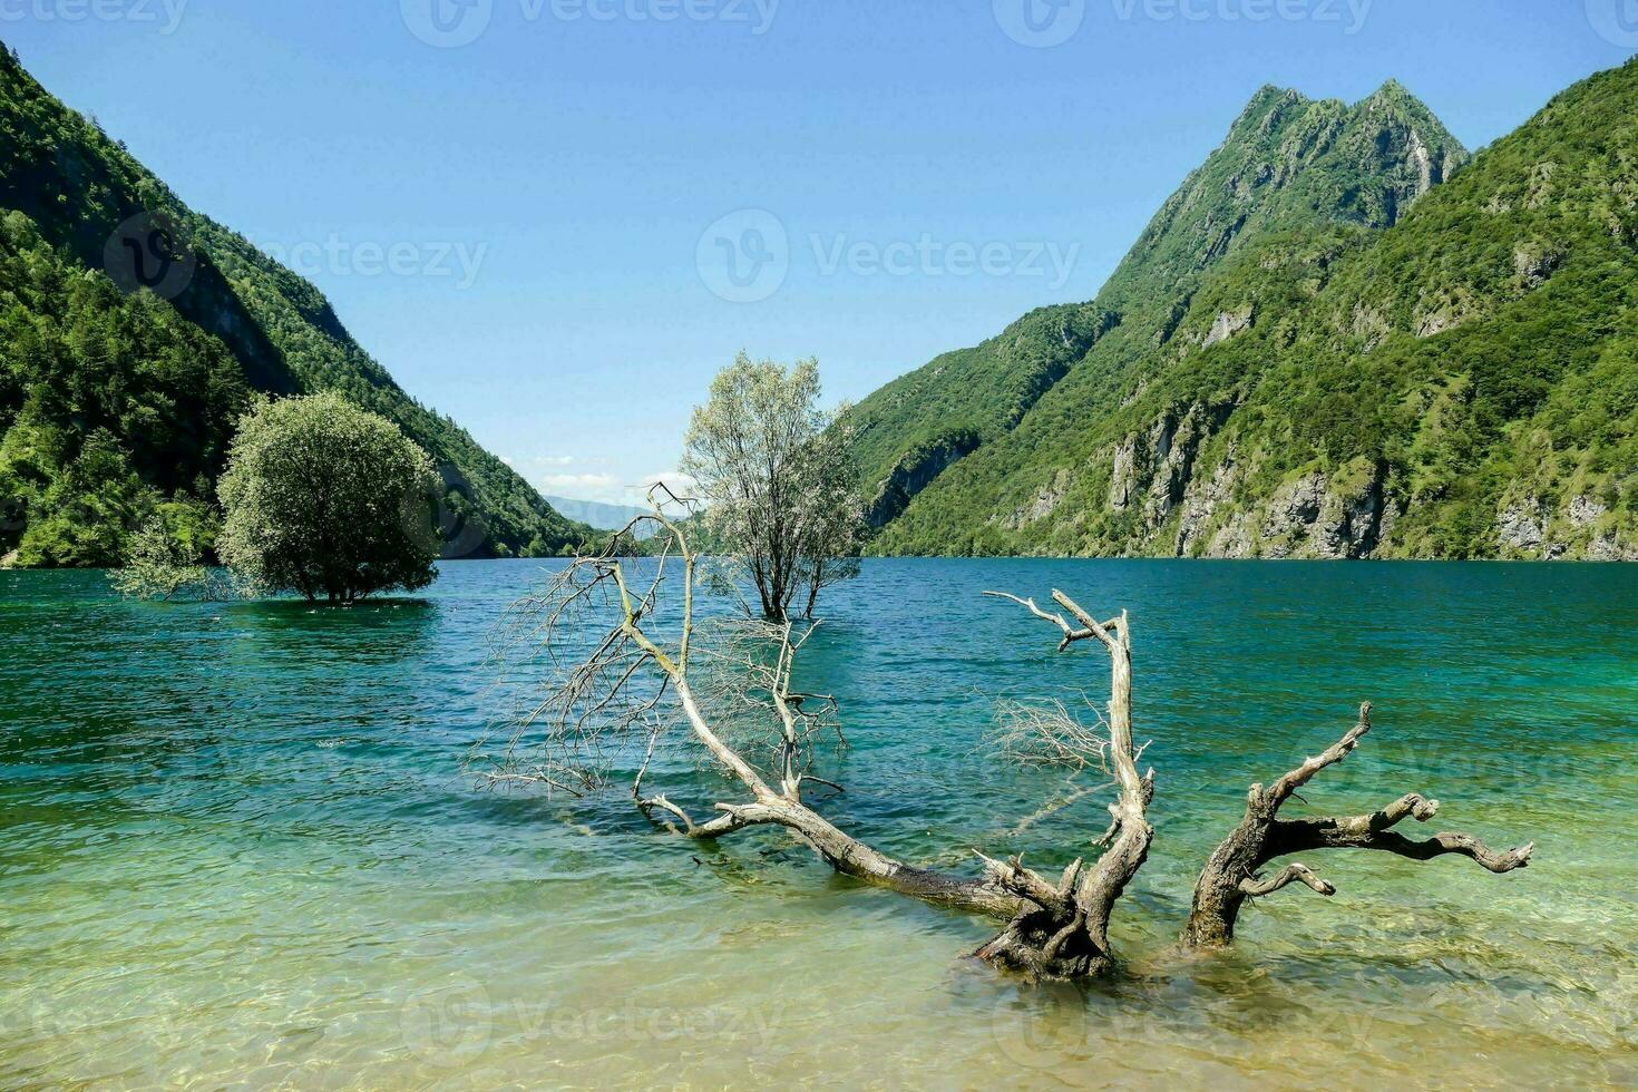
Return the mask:
<svg viewBox="0 0 1638 1092">
<path fill-rule="evenodd" d="M 978 593 L 1132 611 L 1156 842 L 1115 915 L 1127 971 L 1088 989 L 963 959 L 984 922 L 778 833 L 706 851 L 621 791 L 475 791 L 488 635 L 541 573 L 450 565 L 351 611 L 0 573 L 0 1085 L 1638 1081 L 1635 566 L 867 562 L 803 676 L 852 742 L 824 810 L 917 861 L 1061 864 L 1102 828 L 1083 801 L 1007 833 L 1061 781 L 976 748 L 994 699 L 1106 668 Z M 1535 863 L 1315 855 L 1335 899 L 1287 889 L 1233 951 L 1179 954 L 1247 786 L 1363 699 L 1376 729 L 1314 809 L 1420 791 Z"/>
</svg>

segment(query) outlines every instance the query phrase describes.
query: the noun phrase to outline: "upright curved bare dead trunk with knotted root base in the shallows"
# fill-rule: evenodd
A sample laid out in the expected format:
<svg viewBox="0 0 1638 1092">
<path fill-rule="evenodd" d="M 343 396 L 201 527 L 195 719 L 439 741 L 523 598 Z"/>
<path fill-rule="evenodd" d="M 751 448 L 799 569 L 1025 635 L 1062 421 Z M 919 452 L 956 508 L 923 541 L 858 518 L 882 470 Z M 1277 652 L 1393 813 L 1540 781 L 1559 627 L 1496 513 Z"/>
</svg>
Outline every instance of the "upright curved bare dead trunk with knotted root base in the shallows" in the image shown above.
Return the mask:
<svg viewBox="0 0 1638 1092">
<path fill-rule="evenodd" d="M 1115 956 L 1109 946 L 1109 915 L 1115 900 L 1148 858 L 1155 837 L 1145 817 L 1155 794 L 1155 774 L 1138 776 L 1132 747 L 1132 630 L 1125 612 L 1099 624 L 1061 591 L 1052 598 L 1081 624 L 1068 625 L 1029 599 L 1022 602 L 1037 617 L 1052 620 L 1063 632 L 1058 648 L 1096 637 L 1109 652 L 1109 773 L 1119 796 L 1109 805 L 1112 822 L 1101 838 L 1107 846 L 1097 863 L 1086 868 L 1073 861 L 1057 882 L 1019 863 L 988 861 L 989 874 L 1024 902 L 999 935 L 975 954 L 1004 968 L 1043 979 L 1079 979 L 1109 974 Z"/>
</svg>

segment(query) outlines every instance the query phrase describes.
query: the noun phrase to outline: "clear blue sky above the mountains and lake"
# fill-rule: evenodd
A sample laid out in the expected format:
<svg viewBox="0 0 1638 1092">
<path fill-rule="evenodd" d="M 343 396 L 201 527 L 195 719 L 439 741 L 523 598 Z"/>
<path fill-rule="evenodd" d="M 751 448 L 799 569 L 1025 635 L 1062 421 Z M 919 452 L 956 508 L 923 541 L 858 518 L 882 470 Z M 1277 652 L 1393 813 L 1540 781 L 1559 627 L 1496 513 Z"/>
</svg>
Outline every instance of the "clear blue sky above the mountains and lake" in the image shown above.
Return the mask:
<svg viewBox="0 0 1638 1092">
<path fill-rule="evenodd" d="M 1263 83 L 1396 77 L 1479 146 L 1638 0 L 0 0 L 0 38 L 413 395 L 619 499 L 739 349 L 860 398 L 1091 298 Z"/>
</svg>

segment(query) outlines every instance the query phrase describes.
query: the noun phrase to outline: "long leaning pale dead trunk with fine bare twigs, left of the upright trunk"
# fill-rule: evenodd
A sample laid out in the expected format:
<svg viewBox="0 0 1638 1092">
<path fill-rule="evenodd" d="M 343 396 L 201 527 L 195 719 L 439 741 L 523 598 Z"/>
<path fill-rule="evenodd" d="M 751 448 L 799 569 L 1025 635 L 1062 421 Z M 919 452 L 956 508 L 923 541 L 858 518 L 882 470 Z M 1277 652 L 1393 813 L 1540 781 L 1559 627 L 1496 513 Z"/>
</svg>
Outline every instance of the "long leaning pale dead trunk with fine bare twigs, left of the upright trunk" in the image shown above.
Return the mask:
<svg viewBox="0 0 1638 1092">
<path fill-rule="evenodd" d="M 696 819 L 665 792 L 645 791 L 645 758 L 632 797 L 655 824 L 699 840 L 747 827 L 783 827 L 844 876 L 940 905 L 1014 914 L 1019 896 L 993 876 L 965 878 L 906 864 L 844 833 L 804 802 L 806 784 L 822 783 L 808 773 L 808 756 L 821 730 L 814 706 L 824 706 L 791 691 L 791 671 L 806 635 L 794 637 L 790 622 L 696 617 L 699 558 L 686 532 L 657 512 L 632 521 L 621 534 L 644 521 L 657 524 L 667 544 L 644 586 L 634 588 L 622 558 L 609 552 L 573 560 L 544 594 L 519 604 L 526 635 L 554 658 L 563 657 L 552 694 L 532 717 L 557 755 L 523 768 L 514 763 L 503 776 L 577 789 L 591 784 L 586 766 L 609 747 L 624 742 L 652 758 L 657 745 L 680 727 L 717 769 L 739 783 L 744 799 L 714 802 L 709 817 Z M 676 565 L 680 616 L 660 624 L 667 568 Z M 593 637 L 585 643 L 588 632 Z M 577 642 L 581 650 L 562 652 Z M 667 712 L 681 724 L 667 719 Z M 760 747 L 760 740 L 735 743 L 735 737 L 755 725 L 771 725 L 767 776 L 742 753 L 752 753 L 747 743 Z"/>
</svg>

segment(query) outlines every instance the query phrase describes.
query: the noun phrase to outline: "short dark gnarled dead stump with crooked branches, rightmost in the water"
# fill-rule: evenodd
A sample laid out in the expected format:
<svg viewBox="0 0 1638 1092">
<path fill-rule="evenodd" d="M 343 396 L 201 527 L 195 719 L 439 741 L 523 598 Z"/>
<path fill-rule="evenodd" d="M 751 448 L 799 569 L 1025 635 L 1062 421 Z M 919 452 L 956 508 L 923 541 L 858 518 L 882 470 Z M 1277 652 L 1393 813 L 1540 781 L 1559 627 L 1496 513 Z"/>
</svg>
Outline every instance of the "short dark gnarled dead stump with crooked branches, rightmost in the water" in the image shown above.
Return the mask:
<svg viewBox="0 0 1638 1092">
<path fill-rule="evenodd" d="M 1279 819 L 1279 807 L 1320 769 L 1340 763 L 1371 730 L 1371 704 L 1360 706 L 1360 720 L 1317 758 L 1281 776 L 1266 789 L 1253 784 L 1247 794 L 1240 825 L 1217 846 L 1194 884 L 1194 904 L 1183 930 L 1183 943 L 1191 948 L 1220 948 L 1233 940 L 1235 918 L 1247 899 L 1273 894 L 1299 882 L 1322 896 L 1337 887 L 1320 879 L 1305 864 L 1292 861 L 1273 874 L 1263 868 L 1281 856 L 1310 850 L 1382 850 L 1397 856 L 1427 861 L 1456 853 L 1469 856 L 1492 873 L 1510 873 L 1530 863 L 1535 843 L 1497 853 L 1464 833 L 1437 833 L 1417 842 L 1392 830 L 1404 819 L 1427 822 L 1438 814 L 1438 801 L 1407 792 L 1387 807 L 1366 815 Z"/>
</svg>

